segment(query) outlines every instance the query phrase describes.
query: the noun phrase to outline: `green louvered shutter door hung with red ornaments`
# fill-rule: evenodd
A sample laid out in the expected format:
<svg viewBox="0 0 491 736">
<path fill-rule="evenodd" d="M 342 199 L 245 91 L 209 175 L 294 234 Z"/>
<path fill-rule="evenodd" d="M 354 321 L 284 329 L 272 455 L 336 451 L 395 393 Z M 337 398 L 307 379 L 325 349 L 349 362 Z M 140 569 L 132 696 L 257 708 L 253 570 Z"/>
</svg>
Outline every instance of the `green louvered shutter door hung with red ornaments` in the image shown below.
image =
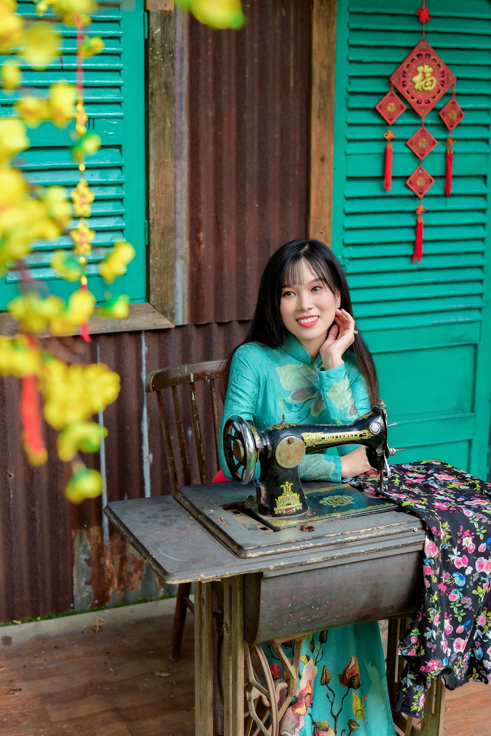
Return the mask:
<svg viewBox="0 0 491 736">
<path fill-rule="evenodd" d="M 418 160 L 406 146 L 420 118 L 393 125 L 393 191 L 383 188 L 387 124 L 375 110 L 390 74 L 421 38 L 417 2 L 337 3 L 333 249 L 355 316 L 376 359 L 397 461 L 440 458 L 487 477 L 490 445 L 491 3 L 431 0 L 426 40 L 457 77 L 465 119 L 454 131 L 453 196 L 444 197 L 445 138 L 423 166 L 424 257 L 411 263 L 416 197 L 405 181 Z"/>
</svg>

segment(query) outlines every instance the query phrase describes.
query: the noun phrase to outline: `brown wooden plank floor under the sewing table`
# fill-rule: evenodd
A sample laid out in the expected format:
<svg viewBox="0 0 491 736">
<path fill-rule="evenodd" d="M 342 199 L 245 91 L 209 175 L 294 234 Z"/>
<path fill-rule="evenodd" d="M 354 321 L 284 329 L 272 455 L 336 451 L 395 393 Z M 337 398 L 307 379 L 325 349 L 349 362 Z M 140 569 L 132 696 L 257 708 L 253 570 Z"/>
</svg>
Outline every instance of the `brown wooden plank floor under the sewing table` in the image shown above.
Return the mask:
<svg viewBox="0 0 491 736">
<path fill-rule="evenodd" d="M 1 736 L 195 736 L 193 620 L 182 659 L 171 662 L 172 604 L 149 618 L 147 605 L 155 604 L 133 606 L 138 617 L 129 609 L 98 634 L 83 632 L 82 617 L 69 630 L 64 619 L 58 633 L 46 622 L 46 633 L 40 626 L 20 642 L 12 629 L 22 627 L 1 629 Z M 490 714 L 491 687 L 447 692 L 444 735 L 491 736 Z"/>
</svg>

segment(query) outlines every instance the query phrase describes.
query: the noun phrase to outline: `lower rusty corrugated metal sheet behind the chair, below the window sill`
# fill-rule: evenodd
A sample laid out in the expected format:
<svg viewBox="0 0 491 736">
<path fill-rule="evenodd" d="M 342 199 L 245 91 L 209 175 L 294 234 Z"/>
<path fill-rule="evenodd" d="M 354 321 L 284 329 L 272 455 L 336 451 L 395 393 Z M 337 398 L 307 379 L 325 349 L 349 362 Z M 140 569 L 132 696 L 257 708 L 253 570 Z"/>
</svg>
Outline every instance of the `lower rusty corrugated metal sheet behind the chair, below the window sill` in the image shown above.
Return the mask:
<svg viewBox="0 0 491 736">
<path fill-rule="evenodd" d="M 108 435 L 101 453 L 83 456 L 88 467 L 101 470 L 107 490 L 80 506 L 70 506 L 63 497 L 69 469 L 57 460 L 54 432 L 47 434 L 46 466 L 27 464 L 18 415 L 20 384 L 0 379 L 0 621 L 171 592 L 109 525 L 102 508 L 107 500 L 168 492 L 157 400 L 144 391 L 146 373 L 225 357 L 247 328 L 247 322 L 230 322 L 93 336 L 81 357 L 117 370 L 121 394 L 104 411 Z M 204 400 L 201 393 L 198 400 Z M 184 425 L 189 436 L 190 411 L 184 412 Z M 205 447 L 209 456 L 211 445 L 205 442 Z M 197 474 L 196 465 L 192 470 Z"/>
</svg>

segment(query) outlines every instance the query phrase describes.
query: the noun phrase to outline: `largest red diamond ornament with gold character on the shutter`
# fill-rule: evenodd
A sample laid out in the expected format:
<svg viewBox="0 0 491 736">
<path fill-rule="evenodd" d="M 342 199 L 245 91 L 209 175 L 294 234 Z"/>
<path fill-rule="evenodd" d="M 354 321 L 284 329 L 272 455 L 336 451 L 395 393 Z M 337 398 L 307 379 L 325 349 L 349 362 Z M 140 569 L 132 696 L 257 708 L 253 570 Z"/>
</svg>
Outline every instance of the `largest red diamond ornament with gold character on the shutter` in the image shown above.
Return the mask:
<svg viewBox="0 0 491 736">
<path fill-rule="evenodd" d="M 455 82 L 455 75 L 427 41 L 421 40 L 390 81 L 421 118 Z"/>
</svg>

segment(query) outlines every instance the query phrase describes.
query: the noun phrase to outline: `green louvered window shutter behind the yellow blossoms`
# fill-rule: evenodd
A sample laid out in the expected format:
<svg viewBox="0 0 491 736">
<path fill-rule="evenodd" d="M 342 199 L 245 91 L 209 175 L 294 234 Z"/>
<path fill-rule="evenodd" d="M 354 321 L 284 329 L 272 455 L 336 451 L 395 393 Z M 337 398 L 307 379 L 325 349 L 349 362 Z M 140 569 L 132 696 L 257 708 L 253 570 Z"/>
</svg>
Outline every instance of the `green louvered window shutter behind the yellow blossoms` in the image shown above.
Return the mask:
<svg viewBox="0 0 491 736">
<path fill-rule="evenodd" d="M 26 19 L 37 17 L 32 1 L 19 2 L 18 12 Z M 24 67 L 24 90 L 46 93 L 49 85 L 60 79 L 75 83 L 76 29 L 61 25 L 60 30 L 62 58 L 46 71 Z M 104 51 L 84 63 L 87 127 L 102 139 L 101 148 L 85 162 L 85 178 L 96 194 L 92 216 L 87 220 L 89 227 L 96 231 L 87 266 L 89 288 L 99 301 L 110 290 L 112 294 L 129 294 L 132 301 L 143 302 L 146 300 L 143 0 L 132 4 L 120 4 L 117 0 L 99 4 L 85 33 L 104 40 Z M 15 99 L 16 96 L 0 91 L 1 116 L 12 115 Z M 68 149 L 69 131 L 73 128 L 74 123 L 64 130 L 44 123 L 28 129 L 31 148 L 19 155 L 15 163 L 33 185 L 64 185 L 68 192 L 76 185 L 79 171 Z M 118 239 L 131 242 L 137 255 L 129 264 L 126 276 L 108 287 L 98 277 L 96 263 Z M 56 246 L 40 242 L 26 259 L 31 266 L 31 277 L 45 281 L 51 293 L 64 297 L 76 285 L 54 274 L 50 268 L 51 255 L 57 248 L 70 250 L 72 246 L 68 235 L 60 238 Z M 0 309 L 18 293 L 19 280 L 21 275 L 15 271 L 0 280 Z"/>
</svg>

